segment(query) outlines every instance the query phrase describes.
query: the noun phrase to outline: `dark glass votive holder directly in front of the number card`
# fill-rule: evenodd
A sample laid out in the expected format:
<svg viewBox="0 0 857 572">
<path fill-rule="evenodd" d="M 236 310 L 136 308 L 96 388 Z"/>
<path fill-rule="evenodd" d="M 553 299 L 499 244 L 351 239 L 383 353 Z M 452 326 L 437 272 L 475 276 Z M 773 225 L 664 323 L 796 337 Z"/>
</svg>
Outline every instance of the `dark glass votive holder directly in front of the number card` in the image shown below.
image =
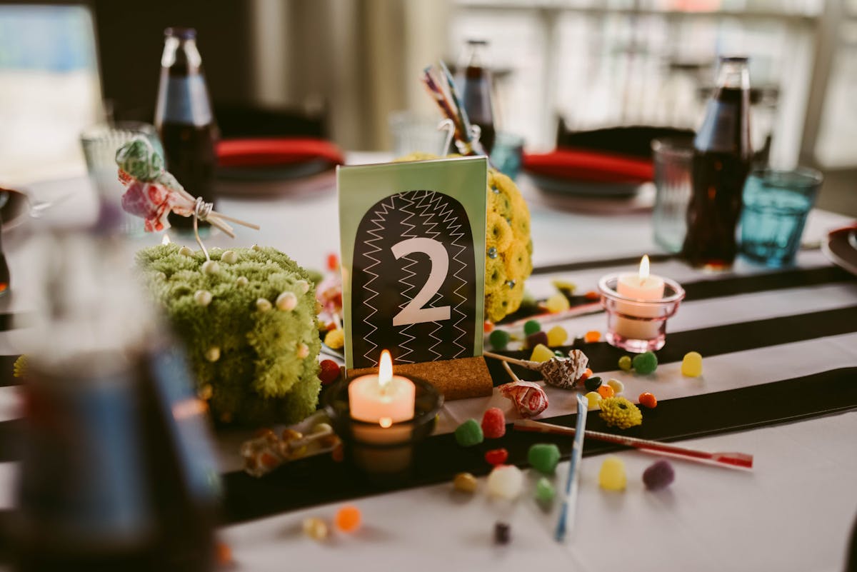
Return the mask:
<svg viewBox="0 0 857 572">
<path fill-rule="evenodd" d="M 345 378 L 325 394 L 325 408 L 333 431 L 342 439 L 348 461 L 370 483 L 378 486 L 403 483 L 411 478 L 417 444 L 434 431 L 443 396 L 428 381 L 409 378 L 417 386 L 413 419 L 381 426 L 351 418 L 348 385 L 354 379 L 357 377 Z"/>
</svg>

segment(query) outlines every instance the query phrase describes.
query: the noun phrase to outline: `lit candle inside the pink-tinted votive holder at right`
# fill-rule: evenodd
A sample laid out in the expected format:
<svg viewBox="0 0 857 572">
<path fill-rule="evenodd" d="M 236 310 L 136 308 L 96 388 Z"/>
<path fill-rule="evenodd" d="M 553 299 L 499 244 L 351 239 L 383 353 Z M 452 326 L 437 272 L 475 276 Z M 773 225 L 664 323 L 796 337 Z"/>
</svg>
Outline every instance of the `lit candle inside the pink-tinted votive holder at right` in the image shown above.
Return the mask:
<svg viewBox="0 0 857 572">
<path fill-rule="evenodd" d="M 616 293 L 638 301 L 659 301 L 663 298 L 663 278 L 649 273 L 649 257 L 640 260 L 636 274 L 623 274 L 616 283 Z M 615 332 L 622 337 L 650 340 L 658 335 L 660 324 L 657 318 L 660 308 L 634 302 L 620 301 L 616 309 L 627 317 L 616 319 Z"/>
</svg>

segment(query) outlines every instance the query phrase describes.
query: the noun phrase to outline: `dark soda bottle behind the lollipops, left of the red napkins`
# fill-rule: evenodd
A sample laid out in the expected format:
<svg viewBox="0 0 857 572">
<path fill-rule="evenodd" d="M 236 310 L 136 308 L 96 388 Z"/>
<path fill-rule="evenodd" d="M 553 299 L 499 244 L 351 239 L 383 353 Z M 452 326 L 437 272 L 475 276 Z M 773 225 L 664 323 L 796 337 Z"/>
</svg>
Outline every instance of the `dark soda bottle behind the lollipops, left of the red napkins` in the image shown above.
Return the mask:
<svg viewBox="0 0 857 572">
<path fill-rule="evenodd" d="M 217 126 L 196 31 L 169 27 L 164 35 L 155 127 L 164 146 L 166 168 L 190 194 L 213 203 Z M 193 227 L 192 217 L 171 214 L 170 223 L 177 229 Z"/>
</svg>

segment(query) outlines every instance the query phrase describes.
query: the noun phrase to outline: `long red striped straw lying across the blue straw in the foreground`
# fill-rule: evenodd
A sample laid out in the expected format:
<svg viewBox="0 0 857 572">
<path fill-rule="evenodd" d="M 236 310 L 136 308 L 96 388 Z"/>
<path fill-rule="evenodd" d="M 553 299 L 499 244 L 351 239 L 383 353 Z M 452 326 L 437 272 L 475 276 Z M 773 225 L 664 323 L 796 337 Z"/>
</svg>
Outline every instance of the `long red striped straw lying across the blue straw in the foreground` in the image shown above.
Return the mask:
<svg viewBox="0 0 857 572">
<path fill-rule="evenodd" d="M 553 425 L 529 419 L 515 421 L 515 429 L 518 431 L 550 433 L 552 435 L 574 435 L 573 427 Z M 747 455 L 746 453 L 709 453 L 708 451 L 687 449 L 686 447 L 675 447 L 674 445 L 668 445 L 658 441 L 649 441 L 647 439 L 635 437 L 624 437 L 622 435 L 613 435 L 611 433 L 589 431 L 588 429 L 584 432 L 584 435 L 586 438 L 626 445 L 627 447 L 633 447 L 634 449 L 651 453 L 653 455 L 671 456 L 679 459 L 685 459 L 686 461 L 716 465 L 718 467 L 752 469 L 752 455 Z"/>
</svg>

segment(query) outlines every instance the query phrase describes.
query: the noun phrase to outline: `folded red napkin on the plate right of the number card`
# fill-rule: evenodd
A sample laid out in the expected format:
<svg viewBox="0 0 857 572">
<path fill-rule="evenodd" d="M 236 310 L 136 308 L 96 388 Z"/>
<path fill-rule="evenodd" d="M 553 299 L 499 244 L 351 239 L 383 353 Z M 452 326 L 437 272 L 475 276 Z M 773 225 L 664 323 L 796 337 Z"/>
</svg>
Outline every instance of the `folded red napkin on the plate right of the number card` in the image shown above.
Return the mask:
<svg viewBox="0 0 857 572">
<path fill-rule="evenodd" d="M 648 159 L 562 148 L 549 153 L 524 153 L 524 170 L 537 175 L 592 182 L 646 182 L 654 176 Z"/>
</svg>

